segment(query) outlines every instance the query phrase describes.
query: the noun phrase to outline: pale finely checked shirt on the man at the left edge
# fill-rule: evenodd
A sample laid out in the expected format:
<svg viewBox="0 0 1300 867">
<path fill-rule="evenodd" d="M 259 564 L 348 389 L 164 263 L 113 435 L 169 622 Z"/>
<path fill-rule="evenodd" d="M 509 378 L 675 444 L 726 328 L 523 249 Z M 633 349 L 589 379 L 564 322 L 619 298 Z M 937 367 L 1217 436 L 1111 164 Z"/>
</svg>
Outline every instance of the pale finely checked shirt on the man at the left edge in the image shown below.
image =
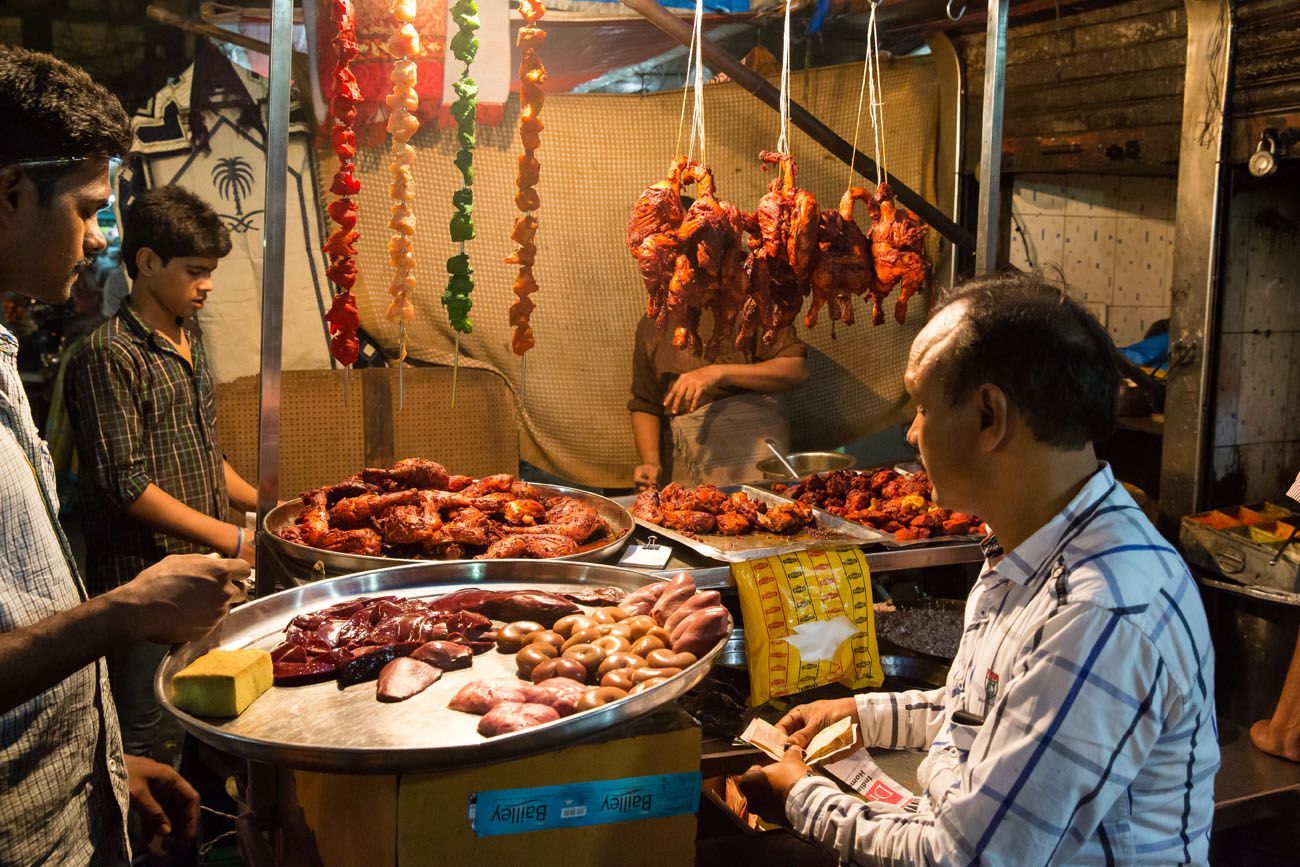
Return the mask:
<svg viewBox="0 0 1300 867">
<path fill-rule="evenodd" d="M 55 468 L 0 326 L 0 632 L 84 598 L 55 520 Z M 69 638 L 74 640 L 74 638 Z M 104 660 L 0 714 L 0 864 L 127 861 L 126 767 Z"/>
</svg>

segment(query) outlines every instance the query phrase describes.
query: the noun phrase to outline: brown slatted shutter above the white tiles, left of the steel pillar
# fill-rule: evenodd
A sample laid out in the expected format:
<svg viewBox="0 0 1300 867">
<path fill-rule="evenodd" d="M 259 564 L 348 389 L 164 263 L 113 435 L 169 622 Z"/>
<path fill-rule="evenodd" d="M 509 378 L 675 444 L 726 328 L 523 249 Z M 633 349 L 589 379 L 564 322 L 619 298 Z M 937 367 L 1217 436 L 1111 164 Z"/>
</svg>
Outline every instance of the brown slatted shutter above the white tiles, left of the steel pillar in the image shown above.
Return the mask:
<svg viewBox="0 0 1300 867">
<path fill-rule="evenodd" d="M 1173 174 L 1183 116 L 1182 0 L 1135 0 L 1013 26 L 1004 170 Z M 968 142 L 980 140 L 984 35 L 957 40 Z M 974 170 L 979 148 L 968 149 Z"/>
</svg>

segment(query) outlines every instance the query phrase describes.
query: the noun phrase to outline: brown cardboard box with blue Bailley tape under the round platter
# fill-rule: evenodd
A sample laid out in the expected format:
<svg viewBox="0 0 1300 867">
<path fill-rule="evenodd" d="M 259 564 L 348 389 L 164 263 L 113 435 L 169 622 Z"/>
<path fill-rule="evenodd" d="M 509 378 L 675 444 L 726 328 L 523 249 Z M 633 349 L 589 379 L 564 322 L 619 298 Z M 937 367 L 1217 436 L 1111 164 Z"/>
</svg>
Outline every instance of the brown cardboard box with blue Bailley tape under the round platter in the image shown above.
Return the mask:
<svg viewBox="0 0 1300 867">
<path fill-rule="evenodd" d="M 672 706 L 540 755 L 402 776 L 298 771 L 294 784 L 324 867 L 689 867 L 696 862 L 698 772 L 699 728 Z M 651 786 L 676 786 L 679 807 L 686 803 L 689 785 L 689 811 L 604 822 L 611 815 L 654 815 L 662 810 L 663 805 L 642 785 L 646 780 Z M 612 783 L 577 785 L 592 781 Z M 498 818 L 536 827 L 538 814 L 530 811 L 530 805 L 545 802 L 547 793 L 554 796 L 555 786 L 569 790 L 571 785 L 572 792 L 597 793 L 597 801 L 590 802 L 593 811 L 603 806 L 612 812 L 588 815 L 594 824 L 520 833 L 500 822 L 490 824 L 486 814 L 480 814 L 477 823 L 471 819 L 472 803 L 476 809 L 499 805 L 504 796 L 512 810 L 498 809 Z M 516 797 L 520 789 L 528 793 Z M 533 797 L 538 790 L 540 797 Z M 555 824 L 556 818 L 551 809 L 543 822 Z"/>
</svg>

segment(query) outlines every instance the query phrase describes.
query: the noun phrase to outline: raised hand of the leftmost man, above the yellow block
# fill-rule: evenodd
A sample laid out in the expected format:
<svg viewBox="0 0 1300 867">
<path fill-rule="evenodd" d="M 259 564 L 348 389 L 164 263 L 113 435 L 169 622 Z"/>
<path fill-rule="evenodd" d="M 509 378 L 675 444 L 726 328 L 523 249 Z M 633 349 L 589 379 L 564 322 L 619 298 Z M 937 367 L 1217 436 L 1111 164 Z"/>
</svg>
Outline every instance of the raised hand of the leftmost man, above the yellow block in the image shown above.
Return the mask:
<svg viewBox="0 0 1300 867">
<path fill-rule="evenodd" d="M 112 594 L 125 607 L 135 641 L 174 645 L 212 632 L 243 595 L 250 572 L 244 560 L 182 554 L 151 565 Z"/>
</svg>

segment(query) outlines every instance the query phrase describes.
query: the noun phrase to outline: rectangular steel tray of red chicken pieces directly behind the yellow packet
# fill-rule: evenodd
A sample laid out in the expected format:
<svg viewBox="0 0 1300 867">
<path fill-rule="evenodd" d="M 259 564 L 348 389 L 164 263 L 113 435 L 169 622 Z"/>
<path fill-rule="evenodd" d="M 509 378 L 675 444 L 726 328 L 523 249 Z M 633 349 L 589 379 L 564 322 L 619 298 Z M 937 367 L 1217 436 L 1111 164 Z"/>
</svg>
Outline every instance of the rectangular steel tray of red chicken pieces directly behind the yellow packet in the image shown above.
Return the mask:
<svg viewBox="0 0 1300 867">
<path fill-rule="evenodd" d="M 742 491 L 751 499 L 767 503 L 768 506 L 790 502 L 784 497 L 777 497 L 770 490 L 763 490 L 762 487 L 755 487 L 753 485 L 727 485 L 724 487 L 719 487 L 718 490 L 724 494 Z M 633 495 L 627 499 L 629 502 L 634 502 L 636 497 Z M 810 549 L 852 547 L 855 545 L 881 542 L 890 538 L 884 533 L 871 529 L 870 526 L 846 521 L 842 517 L 832 515 L 831 512 L 823 512 L 819 508 L 814 508 L 812 515 L 816 519 L 816 526 L 803 529 L 789 536 L 777 536 L 776 533 L 744 533 L 741 536 L 701 533 L 698 536 L 686 536 L 676 530 L 670 530 L 659 524 L 651 524 L 650 521 L 640 517 L 636 519 L 636 523 L 656 536 L 670 538 L 677 545 L 684 545 L 685 547 L 693 549 L 707 558 L 723 560 L 724 563 L 744 563 L 745 560 L 779 556 Z"/>
</svg>

